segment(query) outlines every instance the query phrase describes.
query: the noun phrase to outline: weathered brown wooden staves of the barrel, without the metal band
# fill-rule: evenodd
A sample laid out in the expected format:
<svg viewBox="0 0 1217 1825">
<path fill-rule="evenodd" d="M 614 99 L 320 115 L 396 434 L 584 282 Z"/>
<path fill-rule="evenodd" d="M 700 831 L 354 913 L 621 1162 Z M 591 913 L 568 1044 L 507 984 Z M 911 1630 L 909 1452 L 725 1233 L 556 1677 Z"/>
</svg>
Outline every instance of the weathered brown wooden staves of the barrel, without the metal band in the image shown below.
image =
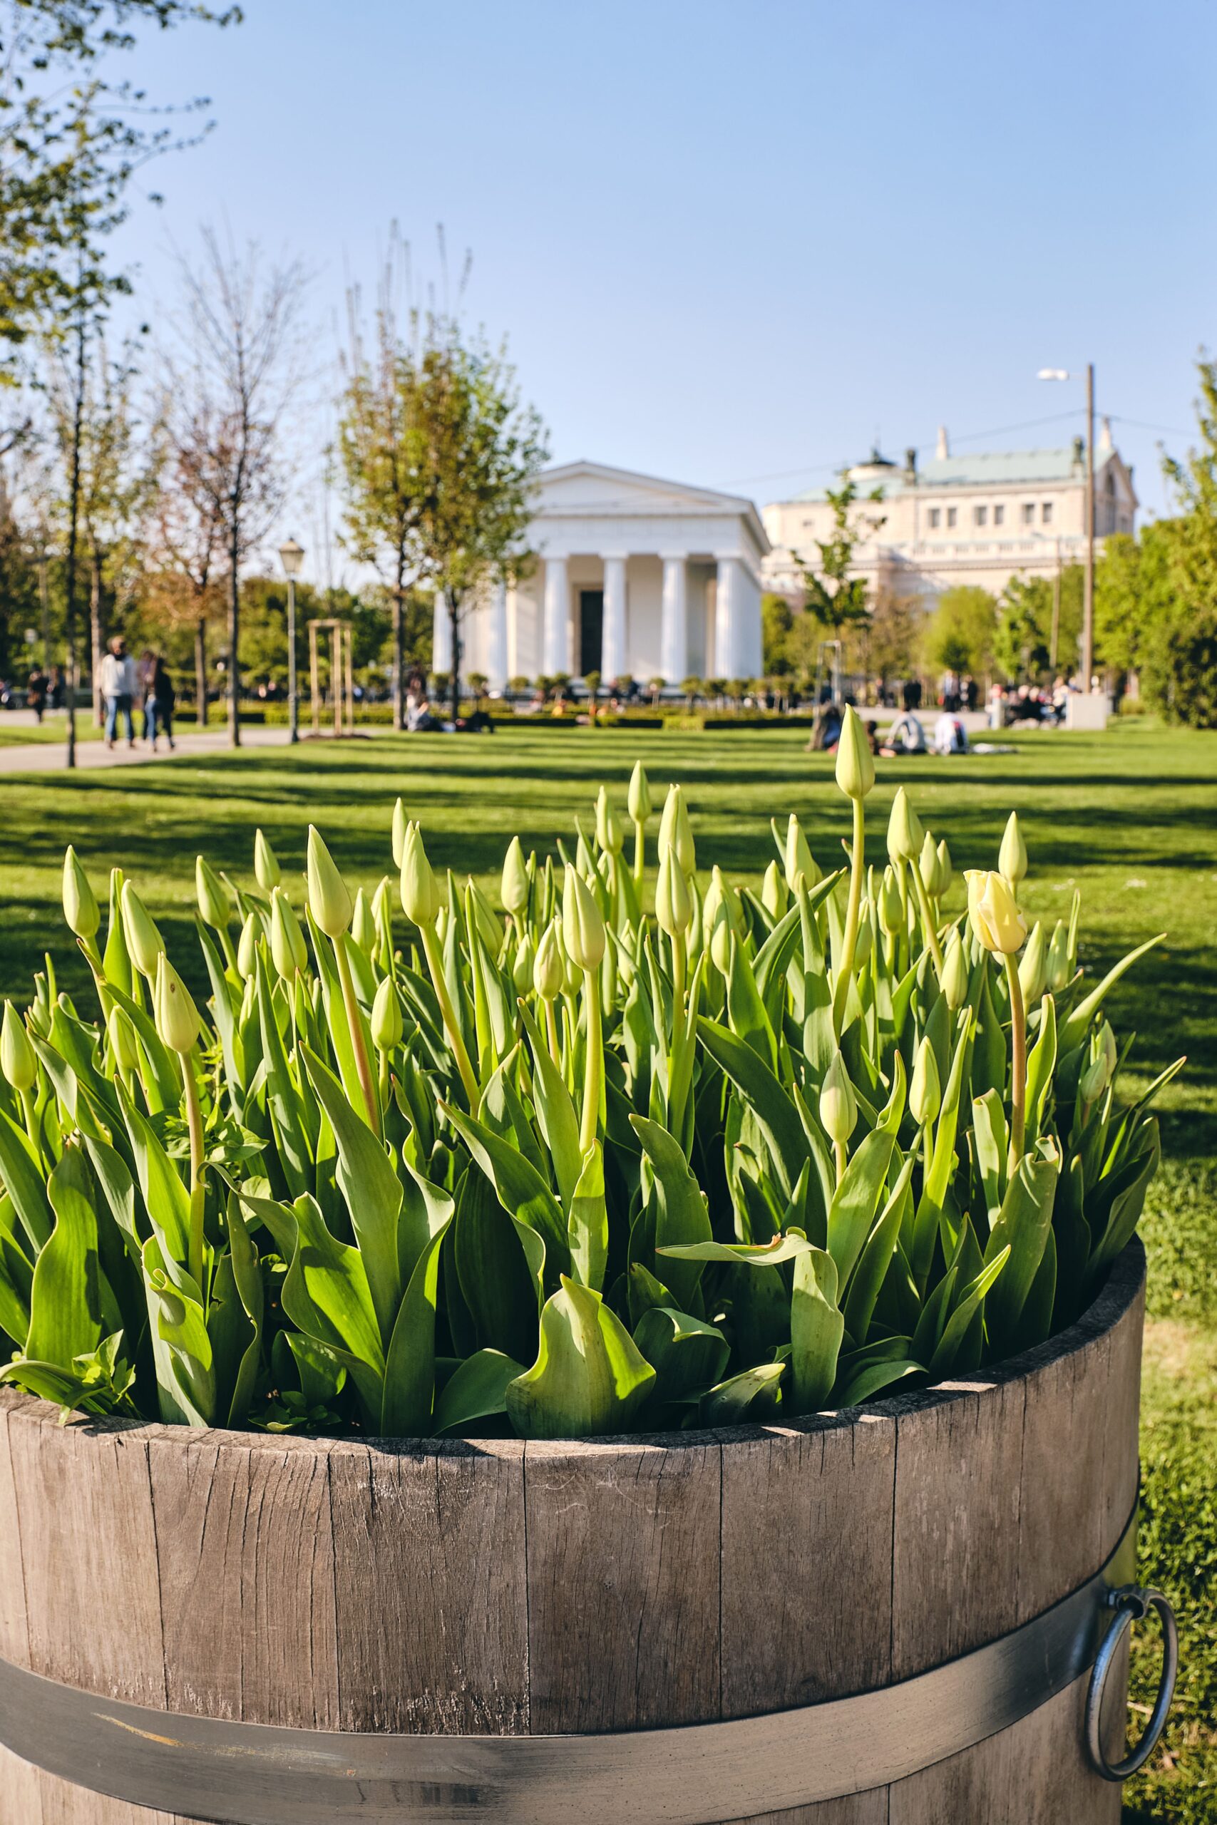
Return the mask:
<svg viewBox="0 0 1217 1825">
<path fill-rule="evenodd" d="M 4 1391 L 0 1653 L 140 1705 L 325 1730 L 631 1730 L 885 1686 L 1004 1635 L 1115 1548 L 1142 1281 L 1133 1246 L 1073 1330 L 969 1382 L 662 1440 L 60 1427 Z M 1109 1825 L 1118 1792 L 1082 1757 L 1062 1695 L 890 1790 L 743 1825 Z M 5 1756 L 9 1821 L 175 1825 Z"/>
</svg>

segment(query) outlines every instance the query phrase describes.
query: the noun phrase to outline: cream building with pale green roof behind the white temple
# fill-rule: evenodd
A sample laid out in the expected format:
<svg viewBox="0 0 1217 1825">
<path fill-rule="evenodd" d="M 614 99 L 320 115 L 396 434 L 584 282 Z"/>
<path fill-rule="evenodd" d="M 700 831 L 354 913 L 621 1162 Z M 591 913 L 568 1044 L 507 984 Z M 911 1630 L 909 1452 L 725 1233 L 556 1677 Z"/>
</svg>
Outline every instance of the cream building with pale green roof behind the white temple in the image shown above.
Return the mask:
<svg viewBox="0 0 1217 1825">
<path fill-rule="evenodd" d="M 978 584 L 1000 595 L 1011 577 L 1051 577 L 1058 564 L 1086 555 L 1086 443 L 1066 449 L 985 451 L 952 456 L 938 433 L 932 462 L 918 465 L 909 451 L 903 469 L 872 453 L 850 469 L 859 495 L 883 487 L 883 504 L 865 504 L 858 516 L 883 518 L 856 551 L 856 571 L 878 589 L 918 595 L 932 608 L 943 589 Z M 1131 533 L 1137 513 L 1133 471 L 1111 443 L 1104 418 L 1095 443 L 1095 535 Z M 765 586 L 797 591 L 797 553 L 816 564 L 816 540 L 832 537 L 825 489 L 765 507 L 774 546 Z"/>
</svg>

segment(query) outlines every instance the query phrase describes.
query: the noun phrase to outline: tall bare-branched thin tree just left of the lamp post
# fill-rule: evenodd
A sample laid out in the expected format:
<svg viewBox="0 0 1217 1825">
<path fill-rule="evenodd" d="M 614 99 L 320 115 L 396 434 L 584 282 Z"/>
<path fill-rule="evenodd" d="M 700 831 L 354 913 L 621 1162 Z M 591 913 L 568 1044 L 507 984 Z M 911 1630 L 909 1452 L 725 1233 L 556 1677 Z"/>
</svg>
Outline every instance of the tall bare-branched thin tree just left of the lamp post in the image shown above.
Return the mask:
<svg viewBox="0 0 1217 1825">
<path fill-rule="evenodd" d="M 241 746 L 241 568 L 266 537 L 286 493 L 283 416 L 299 380 L 305 272 L 297 261 L 263 270 L 203 230 L 203 259 L 182 261 L 186 321 L 166 356 L 177 443 L 219 524 L 228 588 L 228 728 Z"/>
</svg>

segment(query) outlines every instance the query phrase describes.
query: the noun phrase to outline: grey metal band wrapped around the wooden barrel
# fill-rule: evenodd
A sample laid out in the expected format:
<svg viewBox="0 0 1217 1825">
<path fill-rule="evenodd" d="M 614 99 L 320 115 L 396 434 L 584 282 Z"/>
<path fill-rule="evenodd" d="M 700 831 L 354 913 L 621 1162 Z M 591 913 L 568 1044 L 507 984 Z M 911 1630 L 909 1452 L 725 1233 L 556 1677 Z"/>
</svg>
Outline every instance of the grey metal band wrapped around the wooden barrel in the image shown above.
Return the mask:
<svg viewBox="0 0 1217 1825">
<path fill-rule="evenodd" d="M 1102 1571 L 973 1653 L 856 1697 L 606 1736 L 374 1736 L 148 1710 L 0 1661 L 0 1741 L 78 1787 L 221 1825 L 710 1825 L 885 1787 L 1038 1710 L 1095 1661 Z"/>
</svg>

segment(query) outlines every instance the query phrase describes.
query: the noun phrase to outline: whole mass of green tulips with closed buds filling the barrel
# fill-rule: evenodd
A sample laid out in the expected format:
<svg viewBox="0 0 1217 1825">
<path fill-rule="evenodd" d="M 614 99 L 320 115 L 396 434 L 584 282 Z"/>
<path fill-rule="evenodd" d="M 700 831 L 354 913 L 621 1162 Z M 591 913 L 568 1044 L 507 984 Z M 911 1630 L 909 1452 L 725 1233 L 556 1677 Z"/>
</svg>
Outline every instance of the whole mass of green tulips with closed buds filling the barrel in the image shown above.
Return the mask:
<svg viewBox="0 0 1217 1825">
<path fill-rule="evenodd" d="M 1122 1100 L 1104 1018 L 1148 945 L 1089 986 L 1077 894 L 1027 933 L 1014 816 L 967 909 L 903 790 L 881 854 L 852 712 L 837 785 L 845 865 L 790 816 L 759 892 L 699 872 L 679 787 L 655 827 L 642 766 L 556 856 L 513 840 L 498 907 L 401 803 L 370 898 L 259 832 L 252 881 L 199 860 L 206 1011 L 69 849 L 95 1002 L 47 958 L 0 1038 L 4 1380 L 556 1438 L 850 1407 L 1071 1323 L 1159 1161 L 1177 1066 Z"/>
</svg>

